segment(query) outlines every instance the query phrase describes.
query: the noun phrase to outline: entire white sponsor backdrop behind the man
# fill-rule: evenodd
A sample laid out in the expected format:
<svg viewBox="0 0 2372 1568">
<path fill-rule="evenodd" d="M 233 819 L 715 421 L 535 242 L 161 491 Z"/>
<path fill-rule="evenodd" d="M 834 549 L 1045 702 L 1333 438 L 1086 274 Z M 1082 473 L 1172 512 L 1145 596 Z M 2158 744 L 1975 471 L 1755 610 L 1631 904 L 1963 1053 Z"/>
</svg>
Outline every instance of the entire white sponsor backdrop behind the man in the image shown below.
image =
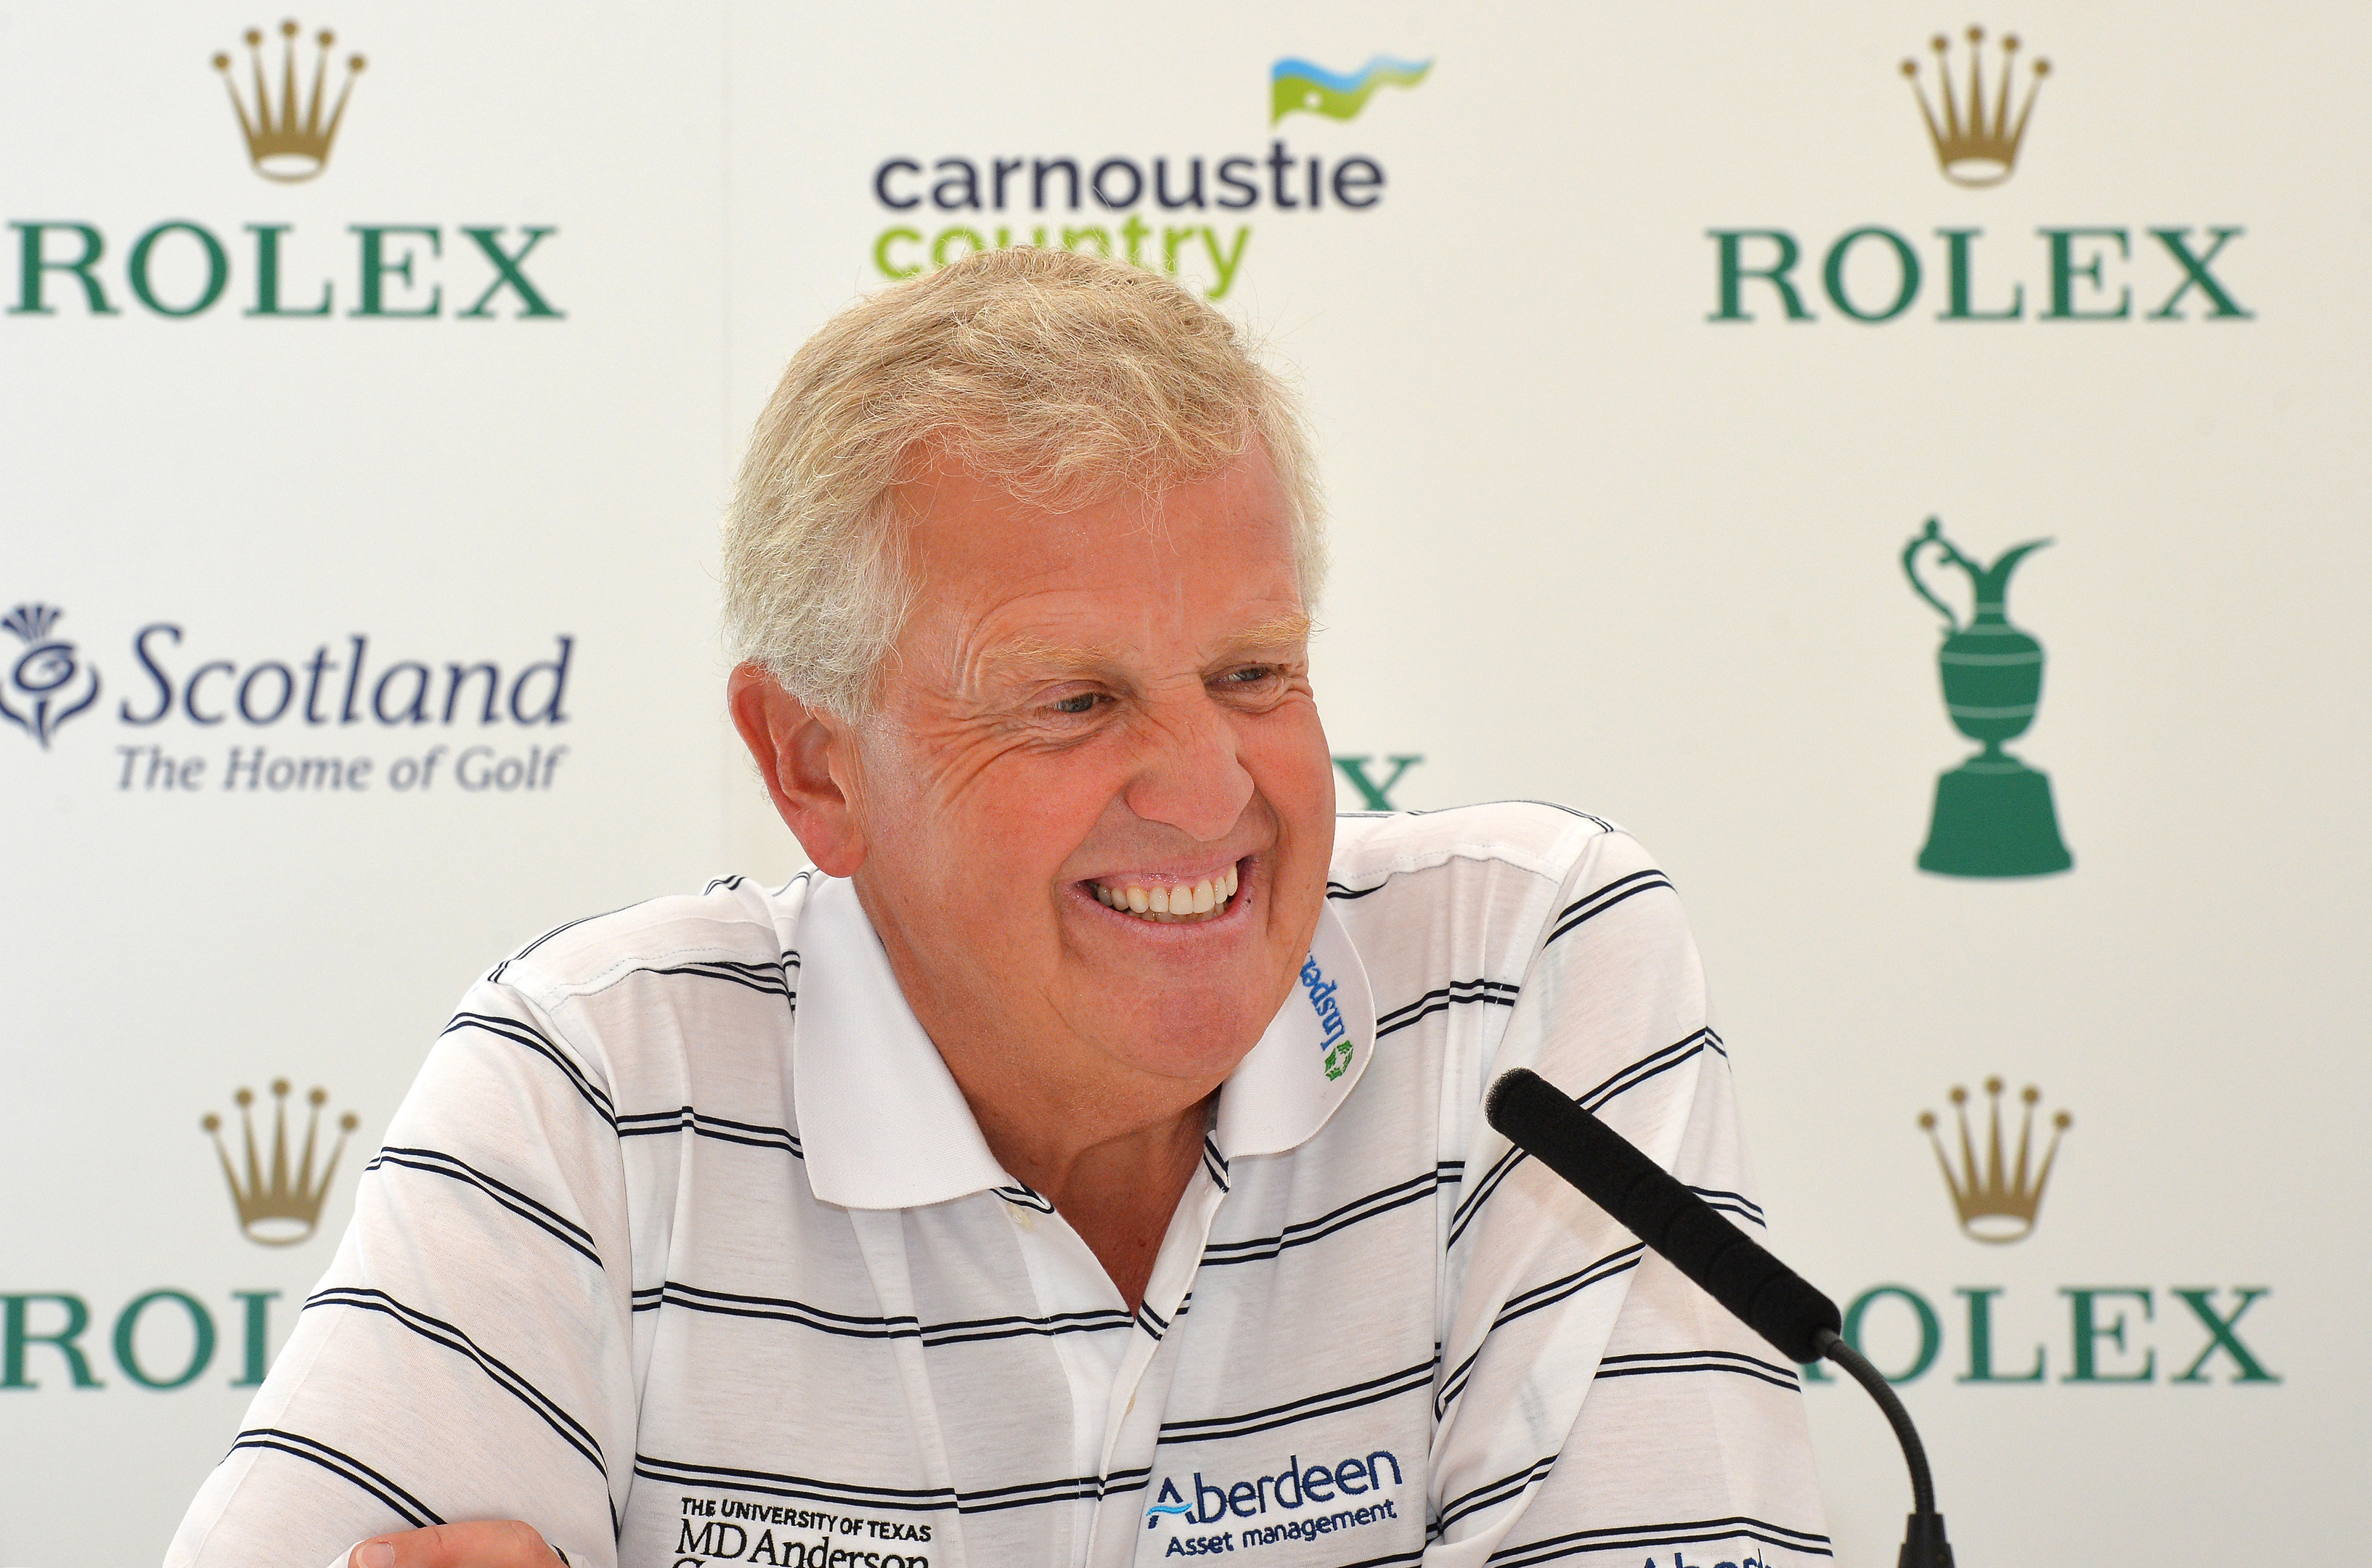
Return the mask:
<svg viewBox="0 0 2372 1568">
<path fill-rule="evenodd" d="M 1779 1245 L 1962 1561 L 2372 1525 L 2372 21 L 299 21 L 299 97 L 323 26 L 351 95 L 282 183 L 232 107 L 278 14 L 0 7 L 0 1563 L 161 1551 L 474 970 L 797 863 L 721 724 L 716 505 L 806 332 L 996 242 L 1174 270 L 1297 370 L 1347 807 L 1660 854 Z M 1931 517 L 1926 586 L 2002 607 L 1952 645 Z M 292 1160 L 313 1086 L 356 1117 L 327 1181 L 273 1181 L 275 1079 Z M 1838 1561 L 1890 1561 L 1890 1438 L 1810 1402 Z"/>
</svg>

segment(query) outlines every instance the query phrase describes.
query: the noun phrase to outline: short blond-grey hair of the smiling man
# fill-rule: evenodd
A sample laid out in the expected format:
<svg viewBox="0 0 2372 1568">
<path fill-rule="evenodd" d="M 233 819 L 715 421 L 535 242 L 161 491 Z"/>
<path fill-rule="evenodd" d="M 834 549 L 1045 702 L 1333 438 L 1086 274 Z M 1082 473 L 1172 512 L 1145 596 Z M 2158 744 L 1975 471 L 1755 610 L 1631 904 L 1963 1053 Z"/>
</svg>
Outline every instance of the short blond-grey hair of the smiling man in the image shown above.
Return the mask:
<svg viewBox="0 0 2372 1568">
<path fill-rule="evenodd" d="M 1032 505 L 1203 479 L 1252 444 L 1286 493 L 1302 607 L 1324 536 L 1288 387 L 1219 311 L 1143 268 L 1013 247 L 892 285 L 792 356 L 726 515 L 726 636 L 859 719 L 913 603 L 894 486 L 927 455 Z"/>
</svg>

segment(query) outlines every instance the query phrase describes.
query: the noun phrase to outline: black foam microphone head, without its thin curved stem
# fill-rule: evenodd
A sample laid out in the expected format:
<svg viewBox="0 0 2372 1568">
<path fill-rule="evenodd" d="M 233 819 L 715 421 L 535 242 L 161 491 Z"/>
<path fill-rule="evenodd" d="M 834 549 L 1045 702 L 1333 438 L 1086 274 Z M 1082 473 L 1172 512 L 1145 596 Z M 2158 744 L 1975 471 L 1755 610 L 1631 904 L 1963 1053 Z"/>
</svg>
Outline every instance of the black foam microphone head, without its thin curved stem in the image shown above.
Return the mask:
<svg viewBox="0 0 2372 1568">
<path fill-rule="evenodd" d="M 1819 1359 L 1819 1333 L 1843 1314 L 1613 1127 L 1530 1067 L 1490 1086 L 1482 1115 L 1499 1134 L 1582 1188 L 1615 1224 L 1660 1253 L 1793 1362 Z"/>
</svg>

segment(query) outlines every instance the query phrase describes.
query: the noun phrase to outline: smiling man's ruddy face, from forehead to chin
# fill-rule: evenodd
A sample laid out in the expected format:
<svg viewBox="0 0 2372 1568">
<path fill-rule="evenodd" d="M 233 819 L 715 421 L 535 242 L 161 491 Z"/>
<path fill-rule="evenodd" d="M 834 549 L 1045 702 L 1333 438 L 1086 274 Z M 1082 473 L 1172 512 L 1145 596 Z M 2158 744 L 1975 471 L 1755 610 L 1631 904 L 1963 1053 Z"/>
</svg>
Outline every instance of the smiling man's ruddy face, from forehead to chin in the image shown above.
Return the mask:
<svg viewBox="0 0 2372 1568">
<path fill-rule="evenodd" d="M 1214 1084 L 1283 1003 L 1333 852 L 1267 453 L 1150 508 L 1044 512 L 954 465 L 901 501 L 923 588 L 849 797 L 908 1001 L 1022 1077 Z"/>
</svg>

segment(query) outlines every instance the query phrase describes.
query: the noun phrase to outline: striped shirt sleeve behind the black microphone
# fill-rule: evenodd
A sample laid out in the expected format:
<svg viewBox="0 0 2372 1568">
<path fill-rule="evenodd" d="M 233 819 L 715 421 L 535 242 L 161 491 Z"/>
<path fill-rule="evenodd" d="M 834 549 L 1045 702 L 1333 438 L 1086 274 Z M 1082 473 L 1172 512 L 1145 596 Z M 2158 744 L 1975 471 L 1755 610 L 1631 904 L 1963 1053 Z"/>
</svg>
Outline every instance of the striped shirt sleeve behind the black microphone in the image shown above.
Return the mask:
<svg viewBox="0 0 2372 1568">
<path fill-rule="evenodd" d="M 1679 899 L 1632 837 L 1596 835 L 1468 1084 L 1426 1566 L 1824 1563 L 1796 1366 L 1482 1122 L 1480 1091 L 1509 1067 L 1762 1231 Z"/>
</svg>

